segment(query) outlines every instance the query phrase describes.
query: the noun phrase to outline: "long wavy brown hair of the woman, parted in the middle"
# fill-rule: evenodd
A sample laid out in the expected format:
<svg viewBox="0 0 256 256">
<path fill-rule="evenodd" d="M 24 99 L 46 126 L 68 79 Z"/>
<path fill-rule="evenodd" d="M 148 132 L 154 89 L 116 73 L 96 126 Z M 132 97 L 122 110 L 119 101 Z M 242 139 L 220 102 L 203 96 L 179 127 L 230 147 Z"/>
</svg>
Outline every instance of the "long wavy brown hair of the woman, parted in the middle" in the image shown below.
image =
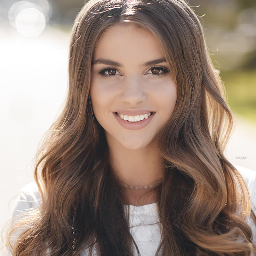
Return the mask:
<svg viewBox="0 0 256 256">
<path fill-rule="evenodd" d="M 245 220 L 251 216 L 256 225 L 250 194 L 224 156 L 234 116 L 202 25 L 183 0 L 84 4 L 72 27 L 65 104 L 36 156 L 42 204 L 10 230 L 12 255 L 75 256 L 93 246 L 97 255 L 132 255 L 133 244 L 139 254 L 89 94 L 96 45 L 124 20 L 160 40 L 177 85 L 174 111 L 157 135 L 164 181 L 155 188 L 162 225 L 156 255 L 256 255 Z"/>
</svg>

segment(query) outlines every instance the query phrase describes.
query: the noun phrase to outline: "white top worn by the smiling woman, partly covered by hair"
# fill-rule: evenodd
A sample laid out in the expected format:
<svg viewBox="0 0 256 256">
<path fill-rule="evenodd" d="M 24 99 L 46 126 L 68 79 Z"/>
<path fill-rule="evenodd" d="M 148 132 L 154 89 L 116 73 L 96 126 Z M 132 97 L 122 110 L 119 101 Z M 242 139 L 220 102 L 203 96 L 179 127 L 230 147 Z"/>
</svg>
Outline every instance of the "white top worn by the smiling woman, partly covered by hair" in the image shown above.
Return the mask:
<svg viewBox="0 0 256 256">
<path fill-rule="evenodd" d="M 251 195 L 252 204 L 256 207 L 256 171 L 238 165 L 234 166 L 242 174 Z M 36 182 L 33 181 L 20 190 L 13 207 L 12 217 L 19 215 L 21 212 L 28 212 L 31 208 L 38 208 L 41 202 L 41 195 Z M 126 207 L 130 207 L 130 232 L 140 250 L 141 256 L 155 255 L 161 238 L 160 225 L 156 223 L 159 221 L 157 203 L 141 206 L 124 205 L 124 209 Z M 247 218 L 246 221 L 252 228 L 253 243 L 256 244 L 254 222 L 251 218 Z M 87 251 L 84 251 L 81 255 L 88 255 Z M 133 255 L 137 255 L 135 246 Z"/>
</svg>

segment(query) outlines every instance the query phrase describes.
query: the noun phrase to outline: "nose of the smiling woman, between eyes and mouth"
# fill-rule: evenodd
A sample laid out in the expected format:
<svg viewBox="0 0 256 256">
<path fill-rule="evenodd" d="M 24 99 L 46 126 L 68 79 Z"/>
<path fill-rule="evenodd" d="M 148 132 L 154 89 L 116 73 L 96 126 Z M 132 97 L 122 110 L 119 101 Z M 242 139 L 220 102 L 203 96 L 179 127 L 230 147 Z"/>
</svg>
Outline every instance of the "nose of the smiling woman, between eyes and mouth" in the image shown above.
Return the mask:
<svg viewBox="0 0 256 256">
<path fill-rule="evenodd" d="M 124 81 L 123 90 L 120 94 L 121 99 L 131 105 L 136 106 L 147 99 L 143 83 L 138 78 L 131 78 Z"/>
</svg>

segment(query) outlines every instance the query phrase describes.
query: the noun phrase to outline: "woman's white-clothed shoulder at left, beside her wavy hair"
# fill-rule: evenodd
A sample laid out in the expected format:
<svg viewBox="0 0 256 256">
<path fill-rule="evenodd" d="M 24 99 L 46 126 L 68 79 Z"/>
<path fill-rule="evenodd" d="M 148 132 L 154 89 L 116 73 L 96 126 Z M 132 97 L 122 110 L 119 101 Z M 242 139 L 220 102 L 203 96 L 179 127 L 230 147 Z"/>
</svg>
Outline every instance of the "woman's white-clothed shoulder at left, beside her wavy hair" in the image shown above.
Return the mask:
<svg viewBox="0 0 256 256">
<path fill-rule="evenodd" d="M 28 183 L 20 189 L 12 210 L 12 217 L 21 213 L 36 209 L 42 202 L 41 194 L 38 190 L 36 181 Z"/>
</svg>

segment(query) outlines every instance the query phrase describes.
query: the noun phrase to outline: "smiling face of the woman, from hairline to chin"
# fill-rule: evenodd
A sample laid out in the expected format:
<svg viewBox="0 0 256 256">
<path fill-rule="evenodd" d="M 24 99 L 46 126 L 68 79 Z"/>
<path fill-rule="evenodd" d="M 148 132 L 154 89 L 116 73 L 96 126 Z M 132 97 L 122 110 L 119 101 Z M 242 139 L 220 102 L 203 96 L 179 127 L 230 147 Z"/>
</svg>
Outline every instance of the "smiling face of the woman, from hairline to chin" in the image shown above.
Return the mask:
<svg viewBox="0 0 256 256">
<path fill-rule="evenodd" d="M 172 115 L 177 90 L 167 62 L 143 65 L 163 58 L 158 39 L 131 23 L 110 27 L 101 37 L 93 56 L 93 61 L 98 61 L 93 65 L 90 97 L 94 115 L 104 128 L 108 143 L 142 149 L 154 140 Z M 103 64 L 99 59 L 116 63 Z M 122 126 L 118 122 L 120 117 L 114 113 L 138 110 L 139 113 L 133 115 L 137 116 L 145 113 L 142 109 L 155 112 L 142 128 L 135 126 L 141 121 L 130 123 L 119 119 L 130 125 Z"/>
</svg>

